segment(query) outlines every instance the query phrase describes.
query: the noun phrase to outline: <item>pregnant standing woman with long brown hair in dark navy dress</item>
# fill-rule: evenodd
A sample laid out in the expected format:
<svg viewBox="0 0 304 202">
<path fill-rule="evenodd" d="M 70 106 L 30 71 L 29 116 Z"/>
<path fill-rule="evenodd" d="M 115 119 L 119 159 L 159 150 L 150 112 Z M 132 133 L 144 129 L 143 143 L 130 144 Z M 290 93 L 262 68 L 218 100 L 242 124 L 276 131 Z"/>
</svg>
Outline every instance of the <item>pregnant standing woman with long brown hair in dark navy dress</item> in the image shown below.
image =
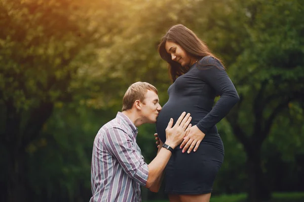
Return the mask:
<svg viewBox="0 0 304 202">
<path fill-rule="evenodd" d="M 177 120 L 182 112 L 192 116 L 190 132 L 175 148 L 166 167 L 165 192 L 171 202 L 209 201 L 224 158 L 215 124 L 238 102 L 238 93 L 220 60 L 185 26 L 179 24 L 168 30 L 159 53 L 168 63 L 173 81 L 168 88 L 169 100 L 157 120 L 161 144 L 166 141 L 170 118 Z"/>
</svg>

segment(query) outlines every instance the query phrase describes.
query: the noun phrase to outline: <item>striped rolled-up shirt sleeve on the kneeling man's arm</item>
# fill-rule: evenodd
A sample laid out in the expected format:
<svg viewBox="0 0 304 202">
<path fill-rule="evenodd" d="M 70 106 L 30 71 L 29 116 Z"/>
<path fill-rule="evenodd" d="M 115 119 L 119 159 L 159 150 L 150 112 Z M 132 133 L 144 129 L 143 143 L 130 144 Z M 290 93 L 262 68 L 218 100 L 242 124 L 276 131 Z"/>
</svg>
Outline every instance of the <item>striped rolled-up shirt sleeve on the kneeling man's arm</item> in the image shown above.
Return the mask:
<svg viewBox="0 0 304 202">
<path fill-rule="evenodd" d="M 104 135 L 105 148 L 120 163 L 123 170 L 140 185 L 148 179 L 148 165 L 130 136 L 120 128 L 109 128 Z"/>
</svg>

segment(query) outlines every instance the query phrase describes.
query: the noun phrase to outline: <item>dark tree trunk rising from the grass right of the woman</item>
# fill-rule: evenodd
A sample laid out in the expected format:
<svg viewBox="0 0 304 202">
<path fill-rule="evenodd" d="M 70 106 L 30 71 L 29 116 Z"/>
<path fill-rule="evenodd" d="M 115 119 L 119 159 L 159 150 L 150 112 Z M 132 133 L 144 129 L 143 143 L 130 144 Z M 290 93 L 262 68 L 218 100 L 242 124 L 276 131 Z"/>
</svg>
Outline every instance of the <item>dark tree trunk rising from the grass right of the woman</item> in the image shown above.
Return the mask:
<svg viewBox="0 0 304 202">
<path fill-rule="evenodd" d="M 248 201 L 260 202 L 271 199 L 271 192 L 261 168 L 260 146 L 247 153 L 247 171 L 249 179 Z"/>
</svg>

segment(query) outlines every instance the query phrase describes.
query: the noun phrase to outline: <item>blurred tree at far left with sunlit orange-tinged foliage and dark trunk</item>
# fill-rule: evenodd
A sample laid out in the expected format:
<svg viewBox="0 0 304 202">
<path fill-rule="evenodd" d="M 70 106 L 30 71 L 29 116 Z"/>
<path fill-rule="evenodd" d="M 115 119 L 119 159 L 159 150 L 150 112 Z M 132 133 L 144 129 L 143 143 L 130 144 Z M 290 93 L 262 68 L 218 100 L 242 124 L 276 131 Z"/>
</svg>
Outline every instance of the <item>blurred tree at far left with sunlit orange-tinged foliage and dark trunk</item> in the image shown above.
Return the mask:
<svg viewBox="0 0 304 202">
<path fill-rule="evenodd" d="M 55 104 L 72 100 L 71 81 L 94 59 L 94 46 L 110 27 L 110 3 L 0 1 L 1 144 L 8 155 L 8 201 L 26 200 L 26 148 L 39 138 Z M 118 19 L 121 16 L 112 18 Z"/>
</svg>

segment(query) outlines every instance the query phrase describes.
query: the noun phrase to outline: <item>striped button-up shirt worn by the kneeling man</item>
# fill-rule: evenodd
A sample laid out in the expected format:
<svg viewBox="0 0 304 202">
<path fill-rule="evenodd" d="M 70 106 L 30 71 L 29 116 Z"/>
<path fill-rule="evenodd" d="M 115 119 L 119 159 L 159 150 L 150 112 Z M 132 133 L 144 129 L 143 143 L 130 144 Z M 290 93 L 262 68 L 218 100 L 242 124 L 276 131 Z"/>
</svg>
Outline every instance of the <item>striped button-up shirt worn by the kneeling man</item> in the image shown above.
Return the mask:
<svg viewBox="0 0 304 202">
<path fill-rule="evenodd" d="M 136 143 L 135 125 L 121 112 L 98 131 L 93 145 L 90 201 L 141 201 L 148 166 Z"/>
</svg>

